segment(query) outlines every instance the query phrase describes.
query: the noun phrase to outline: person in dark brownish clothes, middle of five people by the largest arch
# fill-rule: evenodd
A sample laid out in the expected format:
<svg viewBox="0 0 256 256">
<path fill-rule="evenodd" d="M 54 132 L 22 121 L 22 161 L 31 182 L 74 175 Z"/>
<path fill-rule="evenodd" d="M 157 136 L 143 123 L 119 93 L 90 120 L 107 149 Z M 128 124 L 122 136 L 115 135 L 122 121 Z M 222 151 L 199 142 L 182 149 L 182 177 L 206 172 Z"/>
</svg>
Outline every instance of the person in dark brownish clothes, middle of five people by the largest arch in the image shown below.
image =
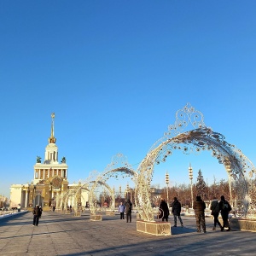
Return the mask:
<svg viewBox="0 0 256 256">
<path fill-rule="evenodd" d="M 204 201 L 201 200 L 201 196 L 196 196 L 196 201 L 194 202 L 193 209 L 195 211 L 195 220 L 197 226 L 197 232 L 201 232 L 201 227 L 204 233 L 207 232 L 206 230 L 206 219 L 205 219 L 205 209 L 206 204 Z"/>
</svg>

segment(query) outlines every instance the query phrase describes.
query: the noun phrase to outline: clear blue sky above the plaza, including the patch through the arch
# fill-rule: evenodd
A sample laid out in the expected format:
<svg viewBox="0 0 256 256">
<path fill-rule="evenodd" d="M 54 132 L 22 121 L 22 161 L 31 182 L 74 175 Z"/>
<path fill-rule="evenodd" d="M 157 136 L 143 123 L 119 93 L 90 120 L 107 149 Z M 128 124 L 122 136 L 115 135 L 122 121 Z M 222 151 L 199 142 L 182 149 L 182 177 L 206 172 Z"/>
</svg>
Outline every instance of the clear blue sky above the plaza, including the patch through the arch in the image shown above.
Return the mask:
<svg viewBox="0 0 256 256">
<path fill-rule="evenodd" d="M 256 162 L 255 1 L 1 1 L 0 194 L 31 182 L 55 112 L 70 183 L 122 153 L 137 168 L 187 102 Z M 190 127 L 191 128 L 191 127 Z M 210 152 L 176 152 L 153 183 L 189 183 Z M 119 183 L 119 182 L 117 182 Z"/>
</svg>

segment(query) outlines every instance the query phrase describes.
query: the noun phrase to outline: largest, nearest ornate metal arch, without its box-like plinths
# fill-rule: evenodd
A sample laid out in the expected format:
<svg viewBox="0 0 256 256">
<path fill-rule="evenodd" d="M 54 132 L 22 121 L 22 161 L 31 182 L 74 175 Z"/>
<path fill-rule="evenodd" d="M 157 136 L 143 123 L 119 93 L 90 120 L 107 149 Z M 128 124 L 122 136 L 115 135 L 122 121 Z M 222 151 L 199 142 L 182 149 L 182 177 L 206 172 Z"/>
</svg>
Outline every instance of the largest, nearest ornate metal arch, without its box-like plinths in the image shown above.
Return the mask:
<svg viewBox="0 0 256 256">
<path fill-rule="evenodd" d="M 184 131 L 189 125 L 195 128 Z M 199 154 L 203 150 L 212 153 L 212 157 L 223 164 L 229 177 L 237 183 L 238 200 L 242 202 L 244 215 L 255 207 L 251 199 L 255 167 L 235 145 L 227 143 L 225 137 L 212 131 L 204 124 L 203 115 L 189 103 L 176 113 L 174 125 L 169 125 L 168 131 L 148 151 L 148 154 L 137 169 L 137 201 L 142 218 L 154 221 L 154 212 L 150 202 L 150 183 L 153 177 L 154 165 L 166 162 L 173 150 L 179 149 L 183 154 Z"/>
</svg>

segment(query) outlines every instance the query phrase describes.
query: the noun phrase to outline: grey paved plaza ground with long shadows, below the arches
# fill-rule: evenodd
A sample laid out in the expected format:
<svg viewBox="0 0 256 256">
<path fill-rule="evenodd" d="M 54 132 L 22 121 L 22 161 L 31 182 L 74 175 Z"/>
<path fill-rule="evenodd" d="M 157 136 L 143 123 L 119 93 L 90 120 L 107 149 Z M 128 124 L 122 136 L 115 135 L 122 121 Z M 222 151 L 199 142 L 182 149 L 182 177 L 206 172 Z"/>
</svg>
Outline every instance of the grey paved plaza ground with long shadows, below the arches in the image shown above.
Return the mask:
<svg viewBox="0 0 256 256">
<path fill-rule="evenodd" d="M 172 236 L 152 236 L 137 232 L 132 222 L 103 215 L 91 221 L 60 212 L 43 212 L 38 227 L 32 226 L 32 212 L 0 220 L 1 255 L 255 255 L 255 233 L 212 230 L 197 233 L 194 217 L 183 217 L 184 227 L 172 227 Z M 169 221 L 172 222 L 172 216 Z M 173 222 L 172 222 L 173 225 Z"/>
</svg>

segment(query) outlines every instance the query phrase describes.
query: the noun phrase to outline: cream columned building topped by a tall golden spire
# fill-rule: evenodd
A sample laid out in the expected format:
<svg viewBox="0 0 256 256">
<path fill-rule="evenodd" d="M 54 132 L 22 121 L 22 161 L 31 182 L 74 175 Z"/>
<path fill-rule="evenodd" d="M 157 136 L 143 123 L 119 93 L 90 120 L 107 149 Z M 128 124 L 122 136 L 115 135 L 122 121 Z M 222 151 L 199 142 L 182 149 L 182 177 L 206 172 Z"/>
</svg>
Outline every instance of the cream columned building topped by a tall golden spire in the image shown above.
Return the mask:
<svg viewBox="0 0 256 256">
<path fill-rule="evenodd" d="M 86 191 L 75 194 L 81 184 L 69 184 L 67 181 L 66 158 L 62 157 L 61 162 L 58 161 L 58 147 L 54 135 L 55 113 L 51 114 L 51 119 L 51 132 L 45 148 L 44 161 L 37 157 L 32 183 L 13 184 L 10 187 L 10 207 L 18 207 L 20 204 L 21 208 L 32 208 L 39 205 L 44 207 L 44 210 L 49 210 L 52 206 L 63 208 L 64 204 L 85 206 L 88 203 Z M 71 190 L 73 193 L 70 193 Z M 55 205 L 57 197 L 61 198 L 60 206 Z"/>
</svg>

